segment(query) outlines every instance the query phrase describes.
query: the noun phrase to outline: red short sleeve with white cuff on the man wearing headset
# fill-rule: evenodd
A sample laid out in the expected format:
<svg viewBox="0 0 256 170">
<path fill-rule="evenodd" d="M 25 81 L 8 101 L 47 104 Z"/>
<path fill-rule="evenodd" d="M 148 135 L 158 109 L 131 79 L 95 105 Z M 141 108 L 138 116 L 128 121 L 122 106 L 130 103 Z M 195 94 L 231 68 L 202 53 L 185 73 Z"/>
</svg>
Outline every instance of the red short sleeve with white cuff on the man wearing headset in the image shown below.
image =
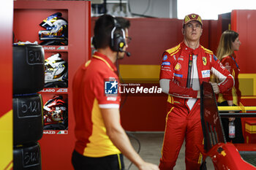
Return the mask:
<svg viewBox="0 0 256 170">
<path fill-rule="evenodd" d="M 118 109 L 120 105 L 120 95 L 118 94 L 118 78 L 114 73 L 98 72 L 94 76 L 94 94 L 97 98 L 99 108 Z"/>
</svg>

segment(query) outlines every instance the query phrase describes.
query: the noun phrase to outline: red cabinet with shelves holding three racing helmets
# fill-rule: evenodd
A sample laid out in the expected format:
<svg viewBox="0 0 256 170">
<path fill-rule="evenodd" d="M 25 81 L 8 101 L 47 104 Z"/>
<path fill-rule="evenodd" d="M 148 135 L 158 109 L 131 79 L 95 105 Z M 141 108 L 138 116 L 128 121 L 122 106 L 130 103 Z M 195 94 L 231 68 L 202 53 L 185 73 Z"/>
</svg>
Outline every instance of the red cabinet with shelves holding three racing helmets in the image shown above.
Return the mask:
<svg viewBox="0 0 256 170">
<path fill-rule="evenodd" d="M 68 22 L 68 45 L 43 46 L 45 58 L 61 53 L 68 63 L 68 87 L 45 88 L 43 104 L 55 95 L 63 95 L 68 102 L 68 129 L 44 131 L 39 140 L 42 169 L 72 169 L 71 156 L 75 145 L 75 119 L 72 109 L 72 77 L 81 63 L 91 57 L 91 2 L 90 1 L 14 1 L 13 32 L 15 42 L 40 42 L 39 23 L 55 12 L 61 12 Z"/>
</svg>

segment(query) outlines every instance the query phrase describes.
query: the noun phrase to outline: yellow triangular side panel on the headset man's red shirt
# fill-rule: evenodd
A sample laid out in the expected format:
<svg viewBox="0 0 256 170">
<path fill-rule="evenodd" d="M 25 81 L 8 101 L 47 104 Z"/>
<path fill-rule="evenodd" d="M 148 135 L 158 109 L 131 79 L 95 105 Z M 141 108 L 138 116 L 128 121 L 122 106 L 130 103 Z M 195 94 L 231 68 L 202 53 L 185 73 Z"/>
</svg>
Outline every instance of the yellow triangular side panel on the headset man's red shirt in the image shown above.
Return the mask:
<svg viewBox="0 0 256 170">
<path fill-rule="evenodd" d="M 105 124 L 96 98 L 91 110 L 91 121 L 93 123 L 92 134 L 83 155 L 97 158 L 121 153 L 106 134 Z"/>
</svg>

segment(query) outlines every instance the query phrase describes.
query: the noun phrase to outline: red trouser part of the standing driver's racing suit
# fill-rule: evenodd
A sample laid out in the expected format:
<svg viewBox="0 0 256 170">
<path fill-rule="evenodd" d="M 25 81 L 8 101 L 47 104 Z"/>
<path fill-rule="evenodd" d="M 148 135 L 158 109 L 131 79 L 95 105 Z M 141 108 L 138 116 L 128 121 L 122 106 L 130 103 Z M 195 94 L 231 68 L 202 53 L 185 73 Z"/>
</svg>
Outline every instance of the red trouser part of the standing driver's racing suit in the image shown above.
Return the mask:
<svg viewBox="0 0 256 170">
<path fill-rule="evenodd" d="M 200 121 L 200 101 L 195 103 L 193 109 L 188 112 L 185 107 L 177 104 L 168 104 L 173 108 L 167 115 L 165 139 L 162 147 L 159 169 L 170 170 L 176 165 L 178 152 L 186 142 L 185 162 L 187 170 L 195 170 L 200 167 L 200 152 L 196 144 L 203 143 L 203 131 Z M 170 109 L 167 111 L 169 112 Z"/>
</svg>

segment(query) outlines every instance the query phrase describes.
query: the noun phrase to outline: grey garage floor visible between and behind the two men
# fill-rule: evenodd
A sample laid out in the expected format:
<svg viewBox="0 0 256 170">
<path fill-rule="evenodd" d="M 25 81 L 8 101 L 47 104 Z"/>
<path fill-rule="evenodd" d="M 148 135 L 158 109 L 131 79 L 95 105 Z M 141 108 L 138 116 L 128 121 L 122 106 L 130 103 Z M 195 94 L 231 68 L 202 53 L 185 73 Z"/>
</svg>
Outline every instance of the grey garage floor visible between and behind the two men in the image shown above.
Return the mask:
<svg viewBox="0 0 256 170">
<path fill-rule="evenodd" d="M 140 141 L 140 156 L 148 162 L 155 163 L 159 165 L 159 158 L 161 155 L 162 149 L 162 140 L 164 133 L 156 132 L 156 133 L 143 133 L 143 132 L 132 132 L 129 133 L 132 136 L 135 136 Z M 132 138 L 129 135 L 129 139 L 132 142 L 132 146 L 135 147 L 135 150 L 138 150 L 138 142 L 136 139 Z M 185 147 L 184 144 L 181 147 L 181 152 L 178 155 L 178 160 L 176 162 L 176 166 L 174 170 L 185 170 Z M 130 161 L 127 158 L 124 158 L 125 169 L 127 170 L 130 165 Z M 206 165 L 208 170 L 214 170 L 214 166 L 211 162 L 210 158 L 206 159 Z M 129 170 L 138 170 L 135 165 L 130 166 Z"/>
</svg>

